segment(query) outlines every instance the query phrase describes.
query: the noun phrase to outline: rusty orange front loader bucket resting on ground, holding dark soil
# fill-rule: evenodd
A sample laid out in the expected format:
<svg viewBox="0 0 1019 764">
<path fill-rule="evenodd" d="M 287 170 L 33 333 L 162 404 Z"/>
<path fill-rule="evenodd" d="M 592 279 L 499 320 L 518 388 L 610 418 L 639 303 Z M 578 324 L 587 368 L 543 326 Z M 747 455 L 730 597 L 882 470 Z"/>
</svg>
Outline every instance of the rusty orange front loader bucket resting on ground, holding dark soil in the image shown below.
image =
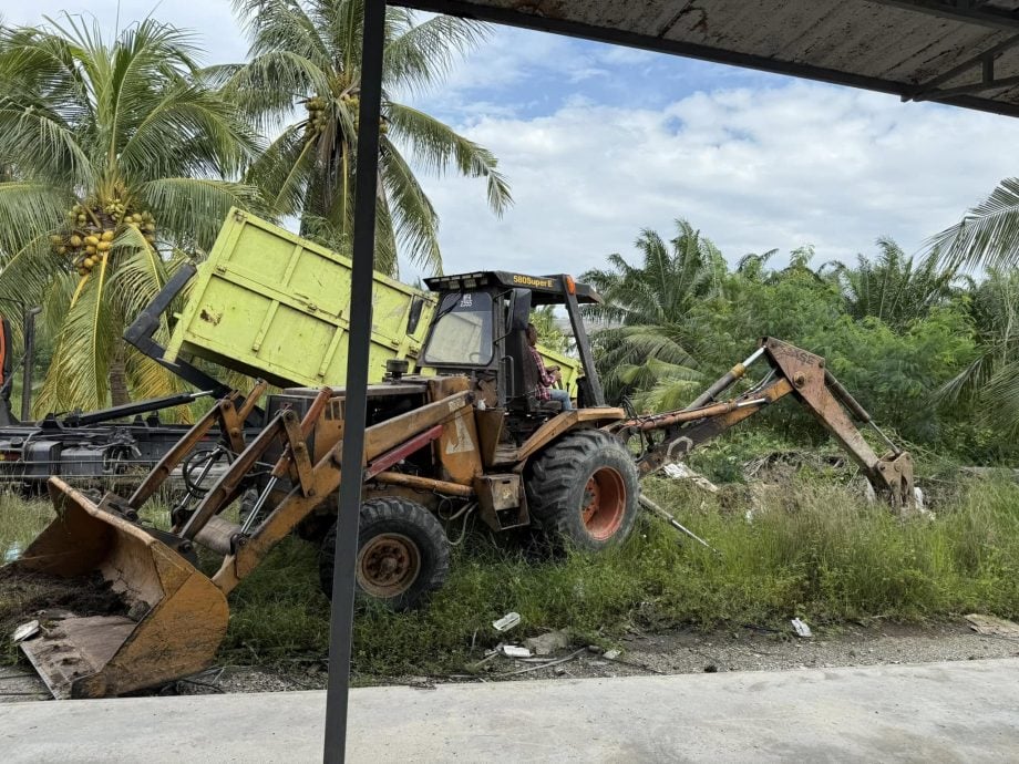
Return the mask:
<svg viewBox="0 0 1019 764">
<path fill-rule="evenodd" d="M 50 478 L 50 497 L 56 519 L 3 572 L 39 586 L 52 586 L 53 577 L 72 579 L 74 591 L 80 582 L 82 592 L 99 591 L 113 605 L 106 615 L 38 617 L 38 634 L 21 649 L 53 695 L 119 695 L 212 664 L 228 608 L 208 577 L 56 477 Z M 25 620 L 32 617 L 25 613 Z"/>
</svg>

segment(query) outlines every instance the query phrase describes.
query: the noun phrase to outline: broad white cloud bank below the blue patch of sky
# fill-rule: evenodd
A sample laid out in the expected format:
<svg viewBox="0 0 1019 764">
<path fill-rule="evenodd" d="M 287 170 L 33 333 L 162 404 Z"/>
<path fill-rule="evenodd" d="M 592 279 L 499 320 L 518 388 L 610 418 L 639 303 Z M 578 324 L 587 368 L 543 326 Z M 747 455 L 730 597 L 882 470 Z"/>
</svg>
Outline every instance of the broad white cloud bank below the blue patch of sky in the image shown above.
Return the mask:
<svg viewBox="0 0 1019 764">
<path fill-rule="evenodd" d="M 813 83 L 697 93 L 661 111 L 573 101 L 462 130 L 493 149 L 516 205 L 497 220 L 480 180 L 425 182 L 446 270 L 580 272 L 685 217 L 734 260 L 813 244 L 819 262 L 907 251 L 1015 174 L 1019 123 Z"/>
</svg>

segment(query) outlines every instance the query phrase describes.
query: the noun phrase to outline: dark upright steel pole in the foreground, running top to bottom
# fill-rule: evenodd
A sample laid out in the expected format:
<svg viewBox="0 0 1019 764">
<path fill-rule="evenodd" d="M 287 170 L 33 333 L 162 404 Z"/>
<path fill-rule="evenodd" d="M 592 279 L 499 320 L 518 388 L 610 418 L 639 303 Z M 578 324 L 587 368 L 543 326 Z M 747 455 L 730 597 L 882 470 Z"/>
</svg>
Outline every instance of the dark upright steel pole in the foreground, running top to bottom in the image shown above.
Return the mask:
<svg viewBox="0 0 1019 764">
<path fill-rule="evenodd" d="M 347 351 L 347 401 L 343 412 L 342 478 L 337 519 L 332 616 L 329 634 L 329 685 L 326 692 L 326 764 L 347 756 L 347 700 L 353 620 L 354 558 L 361 507 L 361 464 L 368 409 L 368 351 L 375 249 L 375 194 L 379 173 L 379 116 L 385 0 L 364 2 L 361 37 L 361 104 L 358 111 L 358 169 L 354 189 L 353 268 L 350 334 Z M 359 300 L 354 304 L 354 300 Z"/>
</svg>

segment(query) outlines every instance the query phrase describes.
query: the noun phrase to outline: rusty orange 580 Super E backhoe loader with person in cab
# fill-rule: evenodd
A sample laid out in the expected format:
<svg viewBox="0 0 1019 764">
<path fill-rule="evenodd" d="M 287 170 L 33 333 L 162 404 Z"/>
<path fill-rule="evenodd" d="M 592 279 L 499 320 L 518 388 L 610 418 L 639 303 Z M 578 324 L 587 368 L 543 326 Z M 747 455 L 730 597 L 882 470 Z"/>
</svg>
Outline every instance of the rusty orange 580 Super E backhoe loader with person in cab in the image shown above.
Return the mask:
<svg viewBox="0 0 1019 764">
<path fill-rule="evenodd" d="M 429 373 L 409 374 L 405 361 L 392 360 L 387 379 L 370 385 L 361 464 L 340 462 L 343 391 L 291 389 L 275 396 L 267 426 L 247 441 L 243 423 L 257 395 L 222 399 L 127 498 L 51 478 L 58 517 L 7 574 L 81 577 L 83 585 L 99 574 L 124 605 L 122 615 L 44 622 L 21 642 L 56 698 L 116 695 L 207 668 L 226 632 L 227 596 L 298 526 L 319 529 L 322 580 L 331 581 L 334 492 L 344 469 L 363 482 L 358 587 L 394 608 L 420 603 L 442 584 L 444 525 L 474 513 L 494 531 L 537 526 L 591 550 L 621 541 L 641 477 L 782 398 L 804 404 L 892 504 L 912 502 L 909 454 L 817 355 L 765 338 L 686 409 L 638 416 L 604 400 L 580 314 L 581 304 L 600 301 L 589 287 L 565 275 L 503 271 L 426 283 L 439 299 L 419 357 Z M 543 400 L 527 344 L 531 311 L 544 304 L 565 309 L 584 368 L 568 411 Z M 750 384 L 756 362 L 763 375 Z M 723 399 L 734 386 L 742 392 Z M 888 452 L 878 456 L 851 416 L 873 426 Z M 217 425 L 229 468 L 174 507 L 169 530 L 145 524 L 146 502 Z M 257 498 L 231 522 L 224 510 L 244 492 Z M 220 560 L 215 574 L 199 569 L 198 549 L 203 565 L 209 555 Z"/>
</svg>

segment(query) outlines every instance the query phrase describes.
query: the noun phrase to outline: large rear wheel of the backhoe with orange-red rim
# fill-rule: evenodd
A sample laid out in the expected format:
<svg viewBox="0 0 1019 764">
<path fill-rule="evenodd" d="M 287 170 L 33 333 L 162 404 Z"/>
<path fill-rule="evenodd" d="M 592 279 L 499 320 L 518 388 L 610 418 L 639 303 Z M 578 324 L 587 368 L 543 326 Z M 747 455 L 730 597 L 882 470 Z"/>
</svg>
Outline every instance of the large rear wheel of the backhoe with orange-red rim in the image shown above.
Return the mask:
<svg viewBox="0 0 1019 764">
<path fill-rule="evenodd" d="M 598 551 L 619 544 L 637 518 L 637 467 L 599 430 L 564 435 L 531 465 L 527 505 L 558 540 Z"/>
</svg>

